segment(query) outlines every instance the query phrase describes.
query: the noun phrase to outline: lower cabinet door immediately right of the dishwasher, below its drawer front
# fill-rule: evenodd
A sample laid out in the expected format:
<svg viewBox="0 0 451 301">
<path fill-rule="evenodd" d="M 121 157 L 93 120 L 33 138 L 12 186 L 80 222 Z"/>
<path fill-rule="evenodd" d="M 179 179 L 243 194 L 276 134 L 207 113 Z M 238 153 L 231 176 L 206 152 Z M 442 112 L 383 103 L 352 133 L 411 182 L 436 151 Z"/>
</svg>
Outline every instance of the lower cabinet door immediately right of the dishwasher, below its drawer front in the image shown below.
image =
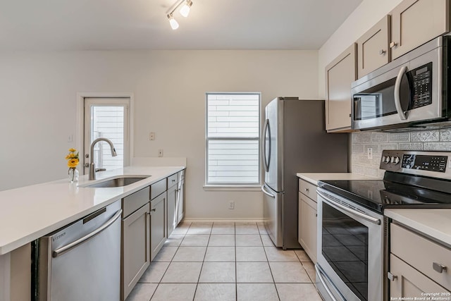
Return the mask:
<svg viewBox="0 0 451 301">
<path fill-rule="evenodd" d="M 150 264 L 149 204 L 122 221 L 121 300 L 140 280 Z"/>
</svg>

